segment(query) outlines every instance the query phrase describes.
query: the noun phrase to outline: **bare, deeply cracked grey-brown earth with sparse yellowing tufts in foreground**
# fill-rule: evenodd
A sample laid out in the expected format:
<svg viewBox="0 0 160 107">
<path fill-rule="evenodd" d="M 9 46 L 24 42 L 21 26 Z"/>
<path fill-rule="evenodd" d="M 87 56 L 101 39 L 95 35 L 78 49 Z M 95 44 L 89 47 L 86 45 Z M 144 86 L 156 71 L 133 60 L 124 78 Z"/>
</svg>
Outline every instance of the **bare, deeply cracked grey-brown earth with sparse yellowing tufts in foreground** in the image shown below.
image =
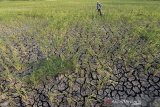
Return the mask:
<svg viewBox="0 0 160 107">
<path fill-rule="evenodd" d="M 123 68 L 121 60 L 117 64 L 122 67 L 110 76 L 109 81 L 96 71 L 86 73 L 85 69 L 81 70 L 81 73 L 60 74 L 52 80 L 45 80 L 37 87 L 21 86 L 15 81 L 7 88 L 6 85 L 9 82 L 1 80 L 1 91 L 9 92 L 6 96 L 1 95 L 1 106 L 5 107 L 9 103 L 3 97 L 10 96 L 17 107 L 103 107 L 108 105 L 134 107 L 135 102 L 138 102 L 135 107 L 153 107 L 160 96 L 159 76 L 147 72 L 140 77 L 137 72 L 143 69 L 143 65 L 137 67 L 137 71 L 133 71 L 130 76 L 131 74 Z M 150 70 L 153 69 L 150 68 Z M 111 80 L 115 83 L 110 82 Z M 26 89 L 26 100 L 21 97 L 21 94 L 16 93 L 14 89 L 16 86 L 22 89 L 22 95 L 23 88 Z M 117 100 L 130 102 L 122 103 Z"/>
</svg>

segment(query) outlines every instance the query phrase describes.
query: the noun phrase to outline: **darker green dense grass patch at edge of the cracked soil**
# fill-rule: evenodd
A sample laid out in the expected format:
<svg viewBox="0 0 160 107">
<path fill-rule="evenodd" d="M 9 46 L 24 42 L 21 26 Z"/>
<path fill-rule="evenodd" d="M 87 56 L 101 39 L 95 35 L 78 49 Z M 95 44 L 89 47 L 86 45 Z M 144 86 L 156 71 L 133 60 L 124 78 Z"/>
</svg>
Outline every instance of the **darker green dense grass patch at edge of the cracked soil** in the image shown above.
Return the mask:
<svg viewBox="0 0 160 107">
<path fill-rule="evenodd" d="M 46 58 L 37 65 L 33 65 L 33 72 L 24 77 L 24 81 L 29 84 L 38 84 L 45 78 L 53 77 L 59 73 L 64 73 L 74 68 L 72 61 L 62 60 L 58 57 Z"/>
</svg>

